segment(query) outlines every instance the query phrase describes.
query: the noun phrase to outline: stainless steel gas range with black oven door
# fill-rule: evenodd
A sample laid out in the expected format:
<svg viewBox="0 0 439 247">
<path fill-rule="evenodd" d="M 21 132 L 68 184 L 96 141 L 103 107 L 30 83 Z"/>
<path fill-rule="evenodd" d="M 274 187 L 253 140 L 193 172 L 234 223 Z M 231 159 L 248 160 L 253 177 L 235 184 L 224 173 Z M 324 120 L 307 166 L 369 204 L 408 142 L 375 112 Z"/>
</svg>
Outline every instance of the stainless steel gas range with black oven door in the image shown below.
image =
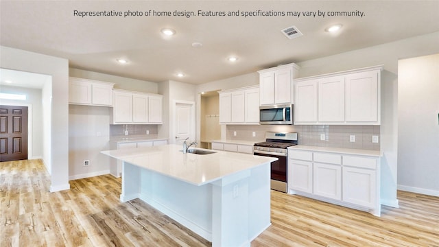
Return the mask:
<svg viewBox="0 0 439 247">
<path fill-rule="evenodd" d="M 271 165 L 272 189 L 287 192 L 287 148 L 293 145 L 297 145 L 297 133 L 292 132 L 266 132 L 265 141 L 254 144 L 254 155 L 278 158 Z"/>
</svg>

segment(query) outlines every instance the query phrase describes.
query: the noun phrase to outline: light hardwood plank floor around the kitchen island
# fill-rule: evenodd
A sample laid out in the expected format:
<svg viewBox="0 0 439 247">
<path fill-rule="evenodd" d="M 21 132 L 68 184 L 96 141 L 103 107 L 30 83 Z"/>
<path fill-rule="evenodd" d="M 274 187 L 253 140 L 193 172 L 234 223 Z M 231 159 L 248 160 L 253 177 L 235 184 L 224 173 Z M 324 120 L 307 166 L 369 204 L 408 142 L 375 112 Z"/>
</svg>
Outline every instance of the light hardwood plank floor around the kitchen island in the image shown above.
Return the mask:
<svg viewBox="0 0 439 247">
<path fill-rule="evenodd" d="M 40 161 L 0 163 L 0 246 L 211 246 L 110 175 L 50 193 Z M 439 198 L 399 191 L 381 217 L 272 191 L 272 226 L 251 246 L 439 246 Z"/>
</svg>

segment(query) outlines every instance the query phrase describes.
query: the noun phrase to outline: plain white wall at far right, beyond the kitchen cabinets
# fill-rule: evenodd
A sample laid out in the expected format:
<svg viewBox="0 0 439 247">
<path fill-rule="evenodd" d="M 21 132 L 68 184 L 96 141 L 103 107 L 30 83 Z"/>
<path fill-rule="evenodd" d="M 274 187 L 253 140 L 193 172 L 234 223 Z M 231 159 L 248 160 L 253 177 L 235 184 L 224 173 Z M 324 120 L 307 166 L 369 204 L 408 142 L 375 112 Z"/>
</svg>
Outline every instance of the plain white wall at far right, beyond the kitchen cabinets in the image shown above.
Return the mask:
<svg viewBox="0 0 439 247">
<path fill-rule="evenodd" d="M 439 196 L 439 54 L 398 69 L 398 187 Z"/>
</svg>

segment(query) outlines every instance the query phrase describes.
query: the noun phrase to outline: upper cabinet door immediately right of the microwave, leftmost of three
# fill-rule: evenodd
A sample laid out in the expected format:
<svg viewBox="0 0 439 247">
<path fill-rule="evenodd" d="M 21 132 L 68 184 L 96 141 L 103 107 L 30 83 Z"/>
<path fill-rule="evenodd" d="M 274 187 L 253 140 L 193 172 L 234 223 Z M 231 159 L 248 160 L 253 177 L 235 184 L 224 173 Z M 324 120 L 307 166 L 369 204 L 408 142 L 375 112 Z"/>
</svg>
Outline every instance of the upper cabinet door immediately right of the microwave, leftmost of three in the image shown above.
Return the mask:
<svg viewBox="0 0 439 247">
<path fill-rule="evenodd" d="M 297 82 L 294 86 L 294 124 L 317 122 L 317 81 Z"/>
</svg>

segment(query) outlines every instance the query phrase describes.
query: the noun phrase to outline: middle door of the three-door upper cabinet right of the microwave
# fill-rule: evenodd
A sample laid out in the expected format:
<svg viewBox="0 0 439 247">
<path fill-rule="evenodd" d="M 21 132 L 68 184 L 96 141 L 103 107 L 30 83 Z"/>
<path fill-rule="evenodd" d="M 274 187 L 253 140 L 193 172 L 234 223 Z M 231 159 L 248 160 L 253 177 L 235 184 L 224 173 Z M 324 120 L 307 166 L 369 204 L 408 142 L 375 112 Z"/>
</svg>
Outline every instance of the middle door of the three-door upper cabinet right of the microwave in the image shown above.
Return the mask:
<svg viewBox="0 0 439 247">
<path fill-rule="evenodd" d="M 344 76 L 323 78 L 318 83 L 318 121 L 344 121 Z"/>
</svg>

